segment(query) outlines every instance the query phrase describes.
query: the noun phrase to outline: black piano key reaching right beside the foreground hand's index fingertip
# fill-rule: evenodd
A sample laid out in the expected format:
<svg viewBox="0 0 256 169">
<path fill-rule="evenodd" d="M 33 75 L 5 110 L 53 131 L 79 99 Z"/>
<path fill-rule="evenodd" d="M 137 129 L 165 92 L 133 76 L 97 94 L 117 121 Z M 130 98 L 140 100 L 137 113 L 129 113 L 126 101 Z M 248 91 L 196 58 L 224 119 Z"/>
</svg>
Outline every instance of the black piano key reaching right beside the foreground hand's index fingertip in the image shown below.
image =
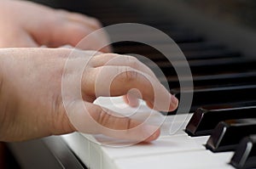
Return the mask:
<svg viewBox="0 0 256 169">
<path fill-rule="evenodd" d="M 180 90 L 171 89 L 177 99 L 180 99 Z M 183 95 L 193 94 L 190 112 L 206 105 L 235 104 L 256 100 L 256 85 L 234 86 L 234 87 L 212 87 L 184 90 Z M 184 112 L 186 113 L 186 112 Z"/>
</svg>

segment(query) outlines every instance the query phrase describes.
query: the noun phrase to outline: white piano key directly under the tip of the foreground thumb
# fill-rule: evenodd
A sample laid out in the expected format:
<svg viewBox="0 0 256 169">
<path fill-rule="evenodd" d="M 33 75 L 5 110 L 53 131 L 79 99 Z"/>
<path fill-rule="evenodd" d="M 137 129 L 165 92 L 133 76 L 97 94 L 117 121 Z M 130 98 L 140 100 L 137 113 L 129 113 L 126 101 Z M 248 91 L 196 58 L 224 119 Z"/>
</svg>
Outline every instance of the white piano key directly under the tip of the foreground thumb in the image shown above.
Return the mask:
<svg viewBox="0 0 256 169">
<path fill-rule="evenodd" d="M 187 136 L 170 136 L 159 138 L 148 144 L 135 144 L 128 147 L 105 147 L 102 150 L 108 158 L 114 160 L 132 156 L 159 155 L 162 153 L 175 153 L 189 150 L 206 149 L 207 136 L 201 138 L 189 138 Z"/>
</svg>

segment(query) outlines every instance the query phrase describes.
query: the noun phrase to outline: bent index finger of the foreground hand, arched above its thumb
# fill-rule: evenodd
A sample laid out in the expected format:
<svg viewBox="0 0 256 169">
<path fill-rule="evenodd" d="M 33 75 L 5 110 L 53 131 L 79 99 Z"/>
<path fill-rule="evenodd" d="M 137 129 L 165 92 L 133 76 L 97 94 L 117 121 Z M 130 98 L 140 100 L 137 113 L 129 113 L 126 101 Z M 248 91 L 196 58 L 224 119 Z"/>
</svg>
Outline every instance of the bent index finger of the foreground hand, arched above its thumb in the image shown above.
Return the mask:
<svg viewBox="0 0 256 169">
<path fill-rule="evenodd" d="M 172 111 L 177 108 L 177 99 L 159 81 L 142 71 L 128 66 L 103 66 L 96 68 L 92 83 L 82 82 L 84 93 L 99 96 L 121 96 L 137 89 L 135 97 L 154 104 L 154 110 Z"/>
</svg>

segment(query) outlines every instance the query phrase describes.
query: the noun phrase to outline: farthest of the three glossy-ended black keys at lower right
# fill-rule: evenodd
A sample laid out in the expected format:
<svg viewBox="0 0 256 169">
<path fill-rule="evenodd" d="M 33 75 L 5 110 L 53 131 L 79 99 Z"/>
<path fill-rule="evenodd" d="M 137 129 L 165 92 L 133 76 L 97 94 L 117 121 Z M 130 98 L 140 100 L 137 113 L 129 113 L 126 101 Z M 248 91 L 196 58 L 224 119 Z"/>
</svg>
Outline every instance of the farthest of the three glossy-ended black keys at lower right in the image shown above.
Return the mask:
<svg viewBox="0 0 256 169">
<path fill-rule="evenodd" d="M 256 118 L 255 106 L 206 110 L 199 108 L 192 115 L 185 132 L 190 136 L 210 135 L 218 122 L 229 119 Z"/>
</svg>

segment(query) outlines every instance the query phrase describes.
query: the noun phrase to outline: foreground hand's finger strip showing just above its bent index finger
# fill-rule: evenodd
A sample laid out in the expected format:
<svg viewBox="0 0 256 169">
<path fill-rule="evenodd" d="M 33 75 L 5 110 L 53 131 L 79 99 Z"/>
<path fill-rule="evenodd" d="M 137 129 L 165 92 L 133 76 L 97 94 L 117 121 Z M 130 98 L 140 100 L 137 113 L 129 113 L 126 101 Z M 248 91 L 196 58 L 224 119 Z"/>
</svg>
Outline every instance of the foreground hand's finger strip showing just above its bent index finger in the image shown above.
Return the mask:
<svg viewBox="0 0 256 169">
<path fill-rule="evenodd" d="M 92 65 L 94 65 L 94 67 L 100 67 L 104 65 L 130 66 L 131 68 L 140 70 L 157 79 L 157 77 L 154 75 L 154 72 L 150 70 L 147 65 L 144 65 L 133 56 L 120 54 L 102 54 L 93 57 L 90 62 Z"/>
</svg>

